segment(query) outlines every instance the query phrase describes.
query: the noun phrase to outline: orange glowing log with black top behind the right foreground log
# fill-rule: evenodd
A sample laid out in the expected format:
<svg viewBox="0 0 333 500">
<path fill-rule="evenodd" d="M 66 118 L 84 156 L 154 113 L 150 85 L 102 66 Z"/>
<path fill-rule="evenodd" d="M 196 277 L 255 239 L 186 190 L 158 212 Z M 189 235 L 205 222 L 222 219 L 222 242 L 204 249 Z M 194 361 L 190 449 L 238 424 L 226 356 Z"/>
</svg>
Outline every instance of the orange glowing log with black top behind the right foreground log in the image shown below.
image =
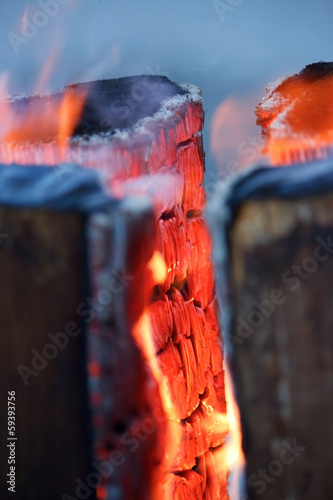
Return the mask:
<svg viewBox="0 0 333 500">
<path fill-rule="evenodd" d="M 274 165 L 332 155 L 332 75 L 333 63 L 320 62 L 267 87 L 256 114 Z"/>
</svg>

